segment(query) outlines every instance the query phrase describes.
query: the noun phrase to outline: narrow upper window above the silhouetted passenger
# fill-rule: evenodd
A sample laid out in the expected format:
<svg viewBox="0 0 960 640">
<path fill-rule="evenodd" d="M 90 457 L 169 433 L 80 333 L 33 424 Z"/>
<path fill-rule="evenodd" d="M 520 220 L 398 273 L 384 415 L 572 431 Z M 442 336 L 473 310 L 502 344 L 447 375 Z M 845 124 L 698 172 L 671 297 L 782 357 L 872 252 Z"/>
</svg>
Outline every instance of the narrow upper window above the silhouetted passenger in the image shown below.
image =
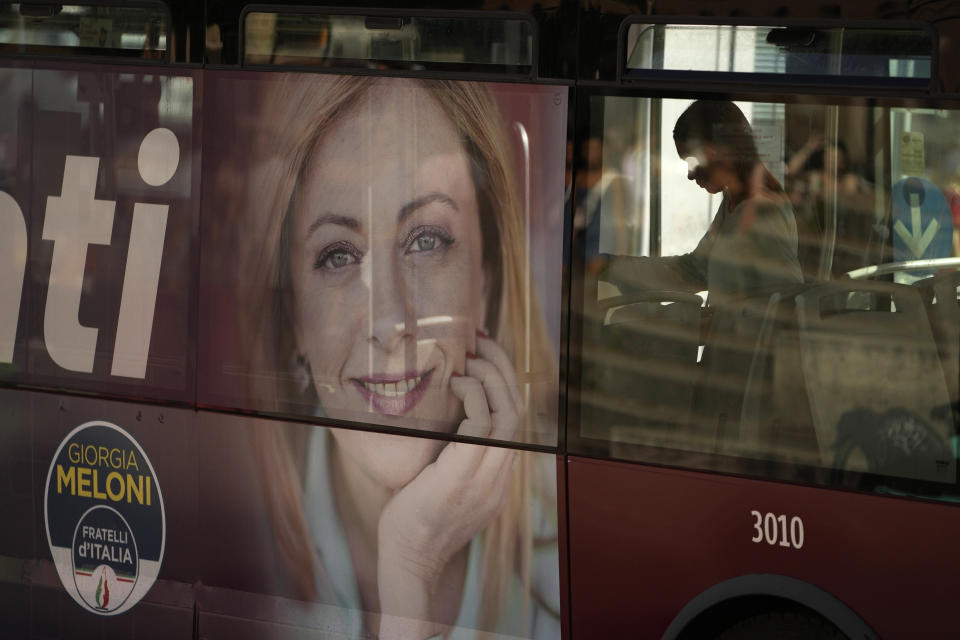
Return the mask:
<svg viewBox="0 0 960 640">
<path fill-rule="evenodd" d="M 930 78 L 933 41 L 918 28 L 632 24 L 627 77 L 686 71 L 767 74 L 781 81 L 825 77 Z"/>
</svg>

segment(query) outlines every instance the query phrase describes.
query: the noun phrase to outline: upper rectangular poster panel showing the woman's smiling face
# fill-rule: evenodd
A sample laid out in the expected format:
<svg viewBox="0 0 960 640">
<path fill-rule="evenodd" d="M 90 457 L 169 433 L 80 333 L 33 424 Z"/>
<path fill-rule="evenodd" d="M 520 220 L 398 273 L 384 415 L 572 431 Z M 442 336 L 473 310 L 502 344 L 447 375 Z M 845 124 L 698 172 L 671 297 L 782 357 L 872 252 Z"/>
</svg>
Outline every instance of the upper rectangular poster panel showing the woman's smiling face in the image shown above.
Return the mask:
<svg viewBox="0 0 960 640">
<path fill-rule="evenodd" d="M 205 83 L 200 404 L 555 445 L 566 89 Z"/>
</svg>

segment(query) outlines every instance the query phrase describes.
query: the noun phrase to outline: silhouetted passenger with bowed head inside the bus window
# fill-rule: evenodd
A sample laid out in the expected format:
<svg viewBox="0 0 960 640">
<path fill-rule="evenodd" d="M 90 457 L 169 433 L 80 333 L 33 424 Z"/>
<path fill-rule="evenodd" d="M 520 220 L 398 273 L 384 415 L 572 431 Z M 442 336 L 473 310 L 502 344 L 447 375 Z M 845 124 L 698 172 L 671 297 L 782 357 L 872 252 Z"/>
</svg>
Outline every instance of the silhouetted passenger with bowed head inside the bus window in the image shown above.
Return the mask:
<svg viewBox="0 0 960 640">
<path fill-rule="evenodd" d="M 714 307 L 802 283 L 790 199 L 761 162 L 743 112 L 729 101 L 698 100 L 677 120 L 673 139 L 687 178 L 723 194 L 713 221 L 684 255 L 604 256 L 599 279 L 622 293 L 706 289 Z"/>
</svg>

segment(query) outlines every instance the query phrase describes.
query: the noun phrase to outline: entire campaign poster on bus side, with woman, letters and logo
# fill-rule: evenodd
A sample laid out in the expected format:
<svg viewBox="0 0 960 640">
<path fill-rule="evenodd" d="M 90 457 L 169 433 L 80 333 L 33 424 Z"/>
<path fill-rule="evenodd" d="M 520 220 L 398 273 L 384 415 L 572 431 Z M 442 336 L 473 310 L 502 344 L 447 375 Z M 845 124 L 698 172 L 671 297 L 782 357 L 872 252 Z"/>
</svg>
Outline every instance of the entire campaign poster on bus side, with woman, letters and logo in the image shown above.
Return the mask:
<svg viewBox="0 0 960 640">
<path fill-rule="evenodd" d="M 558 637 L 566 89 L 17 64 L 0 626 Z"/>
</svg>

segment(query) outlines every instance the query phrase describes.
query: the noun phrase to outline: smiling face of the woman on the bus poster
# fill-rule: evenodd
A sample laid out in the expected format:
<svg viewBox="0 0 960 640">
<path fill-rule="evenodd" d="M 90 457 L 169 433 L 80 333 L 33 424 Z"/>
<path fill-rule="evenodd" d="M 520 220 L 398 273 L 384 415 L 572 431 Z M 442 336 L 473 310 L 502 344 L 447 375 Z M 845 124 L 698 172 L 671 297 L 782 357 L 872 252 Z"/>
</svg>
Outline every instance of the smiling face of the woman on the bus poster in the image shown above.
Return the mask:
<svg viewBox="0 0 960 640">
<path fill-rule="evenodd" d="M 440 106 L 375 85 L 320 140 L 291 215 L 297 344 L 326 414 L 455 430 L 449 381 L 486 287 L 470 161 Z"/>
</svg>

